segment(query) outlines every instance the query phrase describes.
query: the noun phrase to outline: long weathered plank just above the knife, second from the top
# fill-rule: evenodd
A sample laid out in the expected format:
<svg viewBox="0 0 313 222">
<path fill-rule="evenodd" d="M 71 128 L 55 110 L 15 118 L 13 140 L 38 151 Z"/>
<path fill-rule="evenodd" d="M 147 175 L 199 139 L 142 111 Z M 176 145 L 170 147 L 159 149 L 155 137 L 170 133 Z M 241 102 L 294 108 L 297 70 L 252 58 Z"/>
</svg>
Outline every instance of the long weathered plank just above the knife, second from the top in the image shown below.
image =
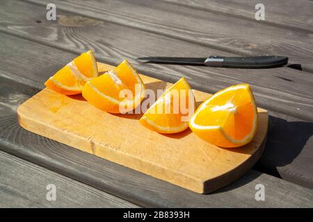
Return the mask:
<svg viewBox="0 0 313 222">
<path fill-rule="evenodd" d="M 302 63 L 303 69 L 313 71 L 311 62 L 313 38 L 310 31 L 294 31 L 290 28 L 269 26 L 255 20 L 230 17 L 154 0 L 90 1 L 88 5 L 83 0 L 27 1 L 44 6 L 47 3 L 56 3 L 59 9 L 78 15 L 114 22 L 150 33 L 159 33 L 232 53 L 289 56 L 289 62 Z M 254 11 L 254 8 L 252 10 Z M 305 19 L 310 19 L 310 16 Z M 207 50 L 207 53 L 211 51 Z"/>
</svg>

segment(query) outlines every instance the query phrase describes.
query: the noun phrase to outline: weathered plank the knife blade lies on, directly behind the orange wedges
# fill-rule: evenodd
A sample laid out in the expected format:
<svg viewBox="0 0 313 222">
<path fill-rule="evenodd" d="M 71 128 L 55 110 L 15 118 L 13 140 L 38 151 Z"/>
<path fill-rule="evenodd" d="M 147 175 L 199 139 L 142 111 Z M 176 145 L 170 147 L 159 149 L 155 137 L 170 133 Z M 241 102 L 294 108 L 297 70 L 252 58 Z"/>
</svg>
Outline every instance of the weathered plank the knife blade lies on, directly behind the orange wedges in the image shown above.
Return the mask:
<svg viewBox="0 0 313 222">
<path fill-rule="evenodd" d="M 13 4 L 12 2 L 17 5 L 10 7 Z M 60 18 L 58 22 L 43 20 L 42 23 L 38 24 L 35 20 L 45 18 L 46 11 L 42 10 L 42 6 L 19 1 L 3 1 L 3 3 L 6 4 L 0 9 L 0 18 L 3 21 L 0 25 L 2 31 L 74 53 L 93 49 L 99 60 L 113 65 L 117 65 L 122 59 L 127 58 L 134 63 L 141 73 L 147 76 L 161 78 L 168 82 L 175 82 L 180 76 L 185 76 L 195 89 L 210 93 L 236 83 L 250 83 L 259 106 L 262 108 L 309 121 L 313 120 L 313 113 L 311 112 L 313 108 L 313 79 L 311 78 L 312 75 L 305 71 L 297 71 L 287 67 L 251 70 L 175 65 L 138 65 L 131 58 L 162 54 L 168 56 L 193 56 L 195 54 L 206 56 L 208 51 L 211 53 L 219 52 L 219 54 L 223 52 L 210 49 L 207 46 L 186 44 L 181 40 L 174 40 L 170 37 L 147 33 L 109 22 L 101 22 L 86 17 L 73 17 L 72 14 L 63 13 L 61 10 L 58 10 L 58 15 L 63 19 Z M 10 18 L 8 11 L 14 14 L 15 17 Z M 17 48 L 13 43 L 7 42 L 6 44 L 12 44 L 10 47 Z M 170 47 L 168 47 L 169 45 Z M 6 50 L 10 51 L 9 49 Z M 15 55 L 13 50 L 10 53 Z M 28 53 L 35 56 L 37 52 L 31 50 Z M 45 53 L 49 54 L 49 51 Z M 40 72 L 41 83 L 44 78 L 51 75 L 51 71 L 47 71 L 50 67 L 54 66 L 55 69 L 50 70 L 56 71 L 62 65 L 65 65 L 66 61 L 70 60 L 70 56 L 67 57 L 69 59 L 60 56 L 60 58 L 54 58 L 54 62 L 47 65 L 45 53 L 40 53 L 40 57 L 37 56 L 38 69 L 29 72 Z M 3 58 L 6 57 L 2 56 Z M 22 58 L 22 60 L 23 62 L 31 62 L 29 56 Z M 15 61 L 6 59 L 5 62 L 6 64 L 13 64 Z M 39 65 L 39 62 L 41 62 L 41 65 Z M 14 65 L 10 68 L 15 69 L 14 72 L 19 73 L 19 75 L 25 73 L 25 70 L 22 69 L 16 71 L 19 68 Z M 33 80 L 39 79 L 33 78 Z"/>
</svg>

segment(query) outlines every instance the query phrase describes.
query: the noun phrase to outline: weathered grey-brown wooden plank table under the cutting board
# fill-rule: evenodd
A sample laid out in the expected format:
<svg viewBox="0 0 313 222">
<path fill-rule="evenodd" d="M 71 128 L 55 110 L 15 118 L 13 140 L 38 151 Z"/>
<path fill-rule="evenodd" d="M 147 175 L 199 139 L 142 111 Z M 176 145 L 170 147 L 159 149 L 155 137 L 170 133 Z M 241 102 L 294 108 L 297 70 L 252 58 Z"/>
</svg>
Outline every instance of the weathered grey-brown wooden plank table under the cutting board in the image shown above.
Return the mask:
<svg viewBox="0 0 313 222">
<path fill-rule="evenodd" d="M 56 21 L 47 21 L 47 3 Z M 265 21 L 255 19 L 264 3 Z M 313 1 L 28 0 L 0 2 L 0 207 L 313 207 Z M 23 130 L 17 107 L 83 51 L 214 93 L 249 83 L 270 114 L 264 155 L 209 195 Z M 303 71 L 140 65 L 139 56 L 289 56 Z M 56 201 L 46 200 L 48 184 Z M 265 187 L 264 201 L 255 186 Z"/>
</svg>

